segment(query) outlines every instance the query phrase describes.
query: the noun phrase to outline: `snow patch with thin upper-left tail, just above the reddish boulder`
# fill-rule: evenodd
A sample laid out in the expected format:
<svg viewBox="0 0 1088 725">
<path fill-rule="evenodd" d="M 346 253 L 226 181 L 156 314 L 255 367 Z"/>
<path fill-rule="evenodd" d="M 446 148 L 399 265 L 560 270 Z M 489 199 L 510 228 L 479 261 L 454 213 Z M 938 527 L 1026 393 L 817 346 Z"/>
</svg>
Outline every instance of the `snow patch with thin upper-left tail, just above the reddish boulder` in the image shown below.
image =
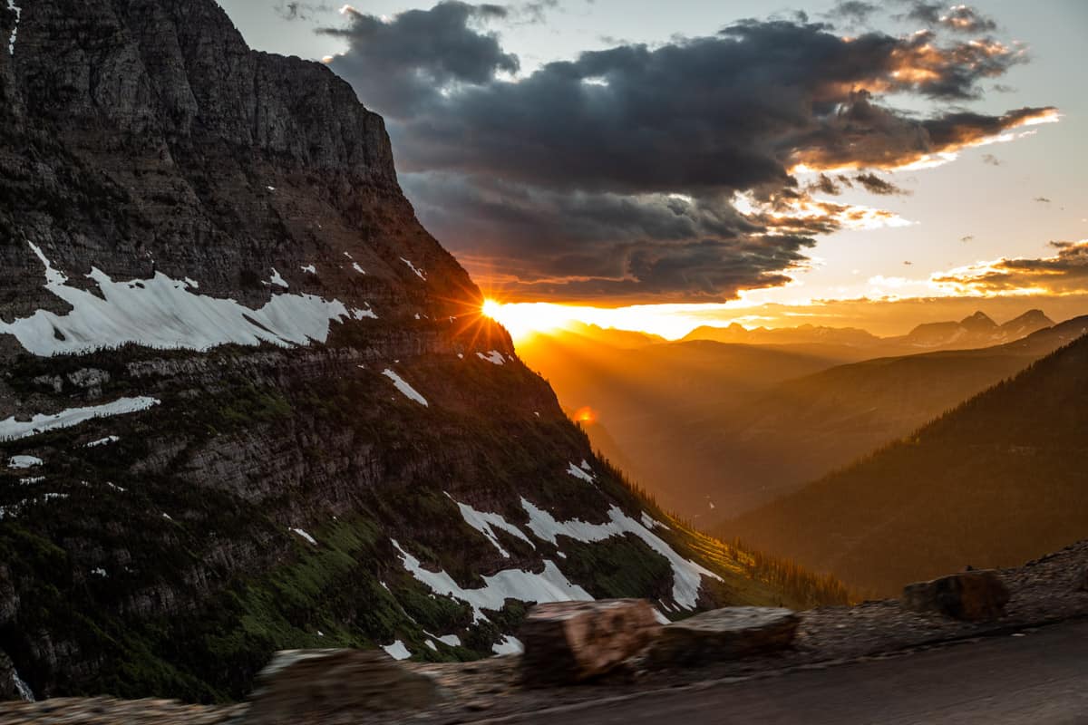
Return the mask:
<svg viewBox="0 0 1088 725">
<path fill-rule="evenodd" d="M 483 610 L 499 611 L 507 599 L 534 601 L 537 603 L 562 601 L 589 601 L 593 597 L 585 589 L 572 584 L 555 562 L 545 559 L 544 571 L 540 574 L 520 568 L 503 570 L 492 576 L 484 576 L 484 585 L 477 589 L 463 589 L 444 571 L 431 572 L 420 561 L 405 551 L 396 540 L 394 548 L 400 552 L 405 570 L 432 591 L 459 599 L 472 608 L 472 621 L 485 622 Z"/>
</svg>

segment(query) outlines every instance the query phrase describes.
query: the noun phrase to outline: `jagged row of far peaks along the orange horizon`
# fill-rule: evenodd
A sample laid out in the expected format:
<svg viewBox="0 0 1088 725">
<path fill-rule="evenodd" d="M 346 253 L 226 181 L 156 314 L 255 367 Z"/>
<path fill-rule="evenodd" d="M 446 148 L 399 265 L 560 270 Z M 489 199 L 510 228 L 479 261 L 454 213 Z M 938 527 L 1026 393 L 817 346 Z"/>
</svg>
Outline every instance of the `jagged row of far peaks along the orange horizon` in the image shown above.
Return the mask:
<svg viewBox="0 0 1088 725">
<path fill-rule="evenodd" d="M 1017 340 L 1037 330 L 1053 326 L 1041 310 L 1030 310 L 1014 320 L 998 325 L 982 312 L 959 322 L 934 322 L 917 325 L 906 335 L 876 337 L 855 327 L 819 327 L 801 325 L 768 329 L 745 329 L 733 323 L 728 327 L 703 326 L 693 329 L 685 340 L 706 339 L 744 345 L 839 345 L 855 348 L 857 359 L 904 355 L 924 350 L 966 350 L 993 347 Z"/>
</svg>

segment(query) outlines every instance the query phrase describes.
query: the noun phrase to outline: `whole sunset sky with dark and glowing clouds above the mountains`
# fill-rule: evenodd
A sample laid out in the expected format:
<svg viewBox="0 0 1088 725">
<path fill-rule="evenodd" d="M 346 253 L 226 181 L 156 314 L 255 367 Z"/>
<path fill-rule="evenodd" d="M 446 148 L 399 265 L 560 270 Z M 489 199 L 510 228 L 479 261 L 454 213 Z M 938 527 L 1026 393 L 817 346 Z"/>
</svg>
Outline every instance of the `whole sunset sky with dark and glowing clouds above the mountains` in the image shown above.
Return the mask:
<svg viewBox="0 0 1088 725">
<path fill-rule="evenodd" d="M 222 4 L 385 117 L 489 295 L 567 305 L 511 315 L 676 337 L 1088 312 L 1083 0 Z"/>
</svg>

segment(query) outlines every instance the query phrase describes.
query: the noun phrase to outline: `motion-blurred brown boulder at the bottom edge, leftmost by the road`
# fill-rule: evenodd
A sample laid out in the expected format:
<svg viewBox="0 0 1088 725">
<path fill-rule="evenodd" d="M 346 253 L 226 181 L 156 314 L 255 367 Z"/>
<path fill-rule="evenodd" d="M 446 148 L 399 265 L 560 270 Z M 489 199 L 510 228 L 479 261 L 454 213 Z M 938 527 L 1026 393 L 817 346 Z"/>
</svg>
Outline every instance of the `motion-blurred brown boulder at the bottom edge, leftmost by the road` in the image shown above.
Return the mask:
<svg viewBox="0 0 1088 725">
<path fill-rule="evenodd" d="M 334 714 L 418 710 L 438 699 L 433 679 L 378 650 L 286 650 L 258 676 L 244 723 L 277 725 Z"/>
</svg>

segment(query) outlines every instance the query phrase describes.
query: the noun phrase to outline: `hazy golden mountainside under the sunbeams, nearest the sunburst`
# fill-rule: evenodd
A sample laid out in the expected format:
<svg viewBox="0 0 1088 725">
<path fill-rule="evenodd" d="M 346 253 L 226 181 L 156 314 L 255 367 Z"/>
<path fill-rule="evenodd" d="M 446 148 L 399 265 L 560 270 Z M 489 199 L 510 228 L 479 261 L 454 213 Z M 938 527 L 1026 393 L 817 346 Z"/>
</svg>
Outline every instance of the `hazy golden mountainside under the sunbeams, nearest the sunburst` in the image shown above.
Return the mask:
<svg viewBox="0 0 1088 725">
<path fill-rule="evenodd" d="M 534 335 L 518 343 L 518 354 L 568 410 L 590 409 L 594 421 L 585 430 L 596 448 L 685 516 L 712 516 L 729 499 L 722 476 L 738 464 L 694 452 L 708 433 L 702 422 L 783 380 L 852 359 L 834 346 L 692 340 L 619 348 L 573 330 Z"/>
</svg>

